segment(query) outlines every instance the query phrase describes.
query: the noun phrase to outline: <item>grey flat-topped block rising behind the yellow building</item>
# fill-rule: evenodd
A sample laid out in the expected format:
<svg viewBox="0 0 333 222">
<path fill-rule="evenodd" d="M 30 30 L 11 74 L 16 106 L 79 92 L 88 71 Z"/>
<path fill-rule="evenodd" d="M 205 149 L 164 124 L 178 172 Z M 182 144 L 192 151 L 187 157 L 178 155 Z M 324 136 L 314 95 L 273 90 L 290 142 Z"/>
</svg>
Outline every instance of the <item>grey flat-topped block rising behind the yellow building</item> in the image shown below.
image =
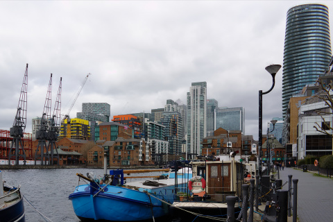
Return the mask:
<svg viewBox="0 0 333 222">
<path fill-rule="evenodd" d="M 77 112 L 76 117 L 87 121 L 108 122 L 110 118 L 110 104 L 82 103 L 82 112 Z"/>
</svg>

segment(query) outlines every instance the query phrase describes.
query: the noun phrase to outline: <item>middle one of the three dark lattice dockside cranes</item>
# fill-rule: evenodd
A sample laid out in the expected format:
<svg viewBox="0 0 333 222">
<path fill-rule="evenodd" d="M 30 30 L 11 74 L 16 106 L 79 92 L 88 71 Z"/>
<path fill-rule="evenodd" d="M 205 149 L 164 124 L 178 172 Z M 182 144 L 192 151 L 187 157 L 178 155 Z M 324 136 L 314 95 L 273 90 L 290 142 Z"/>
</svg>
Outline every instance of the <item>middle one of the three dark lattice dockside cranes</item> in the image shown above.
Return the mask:
<svg viewBox="0 0 333 222">
<path fill-rule="evenodd" d="M 44 103 L 44 110 L 42 114 L 42 119 L 40 119 L 40 128 L 36 132 L 36 139 L 38 139 L 38 145 L 35 153 L 35 165 L 37 163 L 37 159 L 41 158 L 42 160 L 42 165 L 43 165 L 43 160 L 45 160 L 45 165 L 46 165 L 46 160 L 50 160 L 49 157 L 49 151 L 47 150 L 46 146 L 46 139 L 47 133 L 49 131 L 49 121 L 51 119 L 51 92 L 52 92 L 52 74 L 50 77 L 49 81 L 49 87 L 46 92 L 46 99 Z M 40 154 L 38 154 L 38 150 L 40 149 Z M 44 151 L 45 153 L 45 158 L 44 158 Z"/>
</svg>

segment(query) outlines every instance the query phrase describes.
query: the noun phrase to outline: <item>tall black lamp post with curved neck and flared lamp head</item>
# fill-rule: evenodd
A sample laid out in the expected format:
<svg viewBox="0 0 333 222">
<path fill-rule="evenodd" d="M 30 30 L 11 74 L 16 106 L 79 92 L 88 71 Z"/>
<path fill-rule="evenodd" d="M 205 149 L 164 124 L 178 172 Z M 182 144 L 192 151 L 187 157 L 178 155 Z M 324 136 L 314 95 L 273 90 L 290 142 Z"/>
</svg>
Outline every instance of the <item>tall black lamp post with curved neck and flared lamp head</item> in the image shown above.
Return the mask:
<svg viewBox="0 0 333 222">
<path fill-rule="evenodd" d="M 259 157 L 258 157 L 258 171 L 259 171 L 259 189 L 260 193 L 262 191 L 262 95 L 268 94 L 271 92 L 275 85 L 275 74 L 279 71 L 281 65 L 269 65 L 265 69 L 271 74 L 273 78 L 273 84 L 271 89 L 267 92 L 262 92 L 259 90 L 259 142 L 258 142 L 258 150 L 259 150 Z"/>
</svg>

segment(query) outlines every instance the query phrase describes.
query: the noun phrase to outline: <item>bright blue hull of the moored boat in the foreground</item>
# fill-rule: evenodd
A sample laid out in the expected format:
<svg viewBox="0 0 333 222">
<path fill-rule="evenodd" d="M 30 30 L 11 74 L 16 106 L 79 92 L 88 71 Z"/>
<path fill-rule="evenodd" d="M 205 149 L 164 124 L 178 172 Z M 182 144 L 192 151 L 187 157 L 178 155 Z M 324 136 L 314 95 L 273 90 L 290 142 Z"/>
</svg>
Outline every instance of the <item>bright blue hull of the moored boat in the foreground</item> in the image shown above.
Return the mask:
<svg viewBox="0 0 333 222">
<path fill-rule="evenodd" d="M 144 221 L 168 214 L 169 205 L 161 200 L 173 203 L 173 189 L 167 186 L 137 191 L 108 185 L 105 192 L 96 194 L 99 190 L 95 190 L 91 194 L 89 185 L 80 185 L 69 199 L 82 221 Z"/>
</svg>

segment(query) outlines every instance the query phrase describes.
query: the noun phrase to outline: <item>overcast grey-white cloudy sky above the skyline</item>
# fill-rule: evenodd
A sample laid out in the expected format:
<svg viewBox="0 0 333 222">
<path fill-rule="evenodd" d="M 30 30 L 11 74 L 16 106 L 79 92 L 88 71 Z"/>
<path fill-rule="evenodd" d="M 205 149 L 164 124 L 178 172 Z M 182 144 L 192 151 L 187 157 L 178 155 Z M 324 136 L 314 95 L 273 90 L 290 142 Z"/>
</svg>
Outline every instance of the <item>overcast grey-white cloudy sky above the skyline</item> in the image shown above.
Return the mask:
<svg viewBox="0 0 333 222">
<path fill-rule="evenodd" d="M 186 103 L 191 83 L 205 81 L 207 99 L 245 108 L 245 134 L 258 139 L 258 92 L 272 85 L 265 67 L 283 65 L 287 10 L 304 3 L 333 8 L 333 1 L 0 1 L 0 129 L 12 127 L 28 63 L 26 133 L 42 116 L 50 74 L 51 112 L 62 77 L 67 114 L 90 73 L 72 118 L 82 103 L 109 103 L 111 117 L 164 108 L 167 99 Z M 263 134 L 282 117 L 282 69 L 263 96 Z"/>
</svg>

